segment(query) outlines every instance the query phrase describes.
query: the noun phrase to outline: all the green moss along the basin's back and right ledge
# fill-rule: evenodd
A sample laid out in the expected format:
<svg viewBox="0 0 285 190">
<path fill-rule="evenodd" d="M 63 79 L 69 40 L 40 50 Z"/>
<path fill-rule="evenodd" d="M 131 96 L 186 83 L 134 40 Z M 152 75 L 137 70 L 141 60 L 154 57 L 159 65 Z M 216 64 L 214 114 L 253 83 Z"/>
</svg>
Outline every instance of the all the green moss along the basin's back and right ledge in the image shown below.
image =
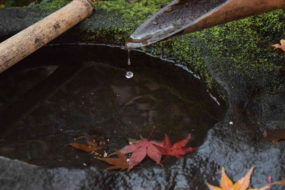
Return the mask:
<svg viewBox="0 0 285 190">
<path fill-rule="evenodd" d="M 66 5 L 68 0 L 53 0 L 21 9 L 15 16 L 15 24 L 0 22 L 0 36 L 10 35 L 11 31 L 18 32 L 17 20 L 21 26 L 30 25 L 46 15 Z M 128 3 L 125 0 L 95 2 L 95 13 L 71 31 L 74 39 L 81 42 L 106 43 L 124 45 L 128 36 L 152 14 L 164 7 L 170 0 L 142 0 Z M 13 8 L 15 9 L 15 8 Z M 3 14 L 3 11 L 1 12 Z M 1 14 L 0 13 L 0 14 Z M 11 16 L 11 15 L 8 15 Z M 12 15 L 13 17 L 13 15 Z M 11 20 L 11 18 L 9 19 Z M 5 31 L 5 28 L 9 32 Z M 14 30 L 11 28 L 14 27 Z M 5 33 L 6 32 L 6 33 Z M 3 35 L 4 34 L 4 35 Z M 63 35 L 64 36 L 64 35 Z M 276 42 L 285 38 L 285 13 L 283 10 L 272 11 L 262 15 L 234 21 L 231 23 L 194 32 L 160 42 L 143 48 L 153 55 L 164 56 L 188 66 L 206 81 L 210 88 L 218 88 L 225 97 L 225 91 L 217 86 L 213 73 L 205 60 L 217 62 L 219 76 L 239 73 L 248 77 L 255 84 L 255 88 L 262 89 L 262 94 L 279 89 L 284 83 L 284 56 L 272 53 L 258 44 L 261 42 Z M 217 61 L 218 60 L 218 61 Z"/>
</svg>

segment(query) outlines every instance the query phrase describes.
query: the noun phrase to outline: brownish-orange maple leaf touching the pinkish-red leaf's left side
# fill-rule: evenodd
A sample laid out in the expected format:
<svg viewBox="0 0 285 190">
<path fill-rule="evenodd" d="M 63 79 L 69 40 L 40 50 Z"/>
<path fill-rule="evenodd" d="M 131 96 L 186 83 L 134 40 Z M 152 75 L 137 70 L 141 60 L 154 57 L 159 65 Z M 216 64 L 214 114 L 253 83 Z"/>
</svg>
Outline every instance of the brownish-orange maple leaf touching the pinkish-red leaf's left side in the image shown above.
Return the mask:
<svg viewBox="0 0 285 190">
<path fill-rule="evenodd" d="M 119 158 L 95 158 L 95 159 L 98 159 L 98 160 L 103 160 L 109 164 L 112 164 L 114 166 L 110 166 L 108 167 L 106 170 L 108 169 L 127 169 L 129 168 L 130 166 L 130 160 L 128 159 L 128 157 L 119 152 L 119 151 L 116 151 L 116 154 L 118 155 Z"/>
</svg>

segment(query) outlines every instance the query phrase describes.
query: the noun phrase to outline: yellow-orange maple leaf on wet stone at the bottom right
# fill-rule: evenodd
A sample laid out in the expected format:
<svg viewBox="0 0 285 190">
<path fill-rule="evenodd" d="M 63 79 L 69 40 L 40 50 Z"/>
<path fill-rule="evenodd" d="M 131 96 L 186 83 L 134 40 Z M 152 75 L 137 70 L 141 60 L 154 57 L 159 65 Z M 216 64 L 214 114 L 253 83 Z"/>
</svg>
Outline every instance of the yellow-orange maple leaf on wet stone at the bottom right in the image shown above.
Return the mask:
<svg viewBox="0 0 285 190">
<path fill-rule="evenodd" d="M 284 181 L 274 182 L 271 185 L 266 185 L 259 189 L 256 189 L 256 188 L 247 189 L 250 184 L 250 178 L 251 178 L 252 172 L 253 172 L 253 167 L 249 169 L 248 173 L 243 178 L 239 179 L 239 181 L 233 184 L 233 181 L 231 181 L 231 179 L 227 176 L 225 172 L 225 168 L 222 167 L 221 187 L 216 187 L 216 186 L 210 185 L 209 183 L 207 183 L 207 185 L 212 190 L 265 190 L 271 187 L 271 185 L 285 185 L 285 180 L 284 180 Z"/>
</svg>

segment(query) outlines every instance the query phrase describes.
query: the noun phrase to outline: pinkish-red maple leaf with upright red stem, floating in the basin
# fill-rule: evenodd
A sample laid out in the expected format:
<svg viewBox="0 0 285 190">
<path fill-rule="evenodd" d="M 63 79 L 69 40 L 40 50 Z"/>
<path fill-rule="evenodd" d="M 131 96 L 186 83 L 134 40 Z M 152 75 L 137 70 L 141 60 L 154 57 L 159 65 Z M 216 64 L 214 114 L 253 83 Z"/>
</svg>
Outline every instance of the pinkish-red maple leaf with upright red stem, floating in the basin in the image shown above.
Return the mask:
<svg viewBox="0 0 285 190">
<path fill-rule="evenodd" d="M 129 139 L 129 141 L 133 144 L 127 145 L 121 150 L 119 150 L 123 154 L 133 152 L 130 158 L 130 166 L 128 170 L 139 164 L 146 157 L 146 155 L 148 155 L 152 160 L 156 161 L 156 163 L 160 163 L 161 154 L 157 147 L 162 147 L 162 143 L 156 142 L 154 140 L 148 141 L 148 139 L 153 133 L 154 128 L 155 126 L 153 126 L 152 132 L 150 133 L 147 139 L 142 137 L 141 140 Z"/>
</svg>

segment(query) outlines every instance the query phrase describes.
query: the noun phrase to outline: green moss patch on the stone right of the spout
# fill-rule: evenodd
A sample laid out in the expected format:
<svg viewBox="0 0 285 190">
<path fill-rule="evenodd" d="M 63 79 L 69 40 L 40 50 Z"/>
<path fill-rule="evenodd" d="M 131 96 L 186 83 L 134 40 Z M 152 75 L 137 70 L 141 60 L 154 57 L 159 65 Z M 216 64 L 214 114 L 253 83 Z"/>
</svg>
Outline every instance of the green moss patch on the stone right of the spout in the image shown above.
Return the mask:
<svg viewBox="0 0 285 190">
<path fill-rule="evenodd" d="M 190 66 L 211 88 L 217 87 L 214 75 L 233 80 L 229 76 L 237 74 L 240 79 L 254 80 L 268 93 L 282 85 L 285 59 L 264 45 L 284 38 L 284 16 L 284 11 L 277 10 L 241 19 L 160 42 L 150 52 L 171 55 Z"/>
</svg>

